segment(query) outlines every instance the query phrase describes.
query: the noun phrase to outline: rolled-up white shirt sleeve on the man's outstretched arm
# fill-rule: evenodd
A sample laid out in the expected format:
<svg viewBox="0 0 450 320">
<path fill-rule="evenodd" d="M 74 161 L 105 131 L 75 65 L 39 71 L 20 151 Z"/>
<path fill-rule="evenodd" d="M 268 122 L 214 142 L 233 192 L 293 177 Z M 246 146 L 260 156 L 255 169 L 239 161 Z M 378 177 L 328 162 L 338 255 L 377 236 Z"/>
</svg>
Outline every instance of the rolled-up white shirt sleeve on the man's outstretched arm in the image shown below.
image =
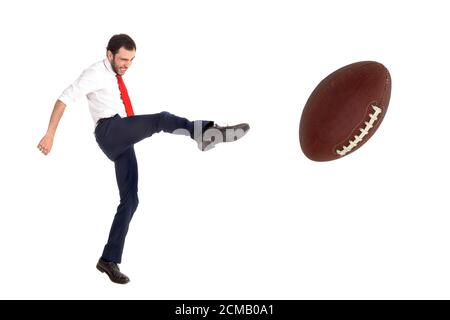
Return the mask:
<svg viewBox="0 0 450 320">
<path fill-rule="evenodd" d="M 59 96 L 59 100 L 65 105 L 75 103 L 83 96 L 101 88 L 101 81 L 97 73 L 92 69 L 83 71 L 80 77 L 68 86 Z"/>
</svg>

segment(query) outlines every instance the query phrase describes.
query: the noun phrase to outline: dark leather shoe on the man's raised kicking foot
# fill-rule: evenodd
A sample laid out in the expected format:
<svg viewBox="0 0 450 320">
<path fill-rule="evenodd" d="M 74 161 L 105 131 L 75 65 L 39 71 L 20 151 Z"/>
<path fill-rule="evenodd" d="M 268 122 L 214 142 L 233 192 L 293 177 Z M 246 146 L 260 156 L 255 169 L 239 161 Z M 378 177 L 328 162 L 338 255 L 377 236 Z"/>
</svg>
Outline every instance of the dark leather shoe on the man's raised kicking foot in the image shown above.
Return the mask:
<svg viewBox="0 0 450 320">
<path fill-rule="evenodd" d="M 217 124 L 203 133 L 203 138 L 198 141 L 198 147 L 202 151 L 211 150 L 218 143 L 237 141 L 250 130 L 248 123 L 240 123 L 235 126 L 221 127 Z"/>
</svg>

